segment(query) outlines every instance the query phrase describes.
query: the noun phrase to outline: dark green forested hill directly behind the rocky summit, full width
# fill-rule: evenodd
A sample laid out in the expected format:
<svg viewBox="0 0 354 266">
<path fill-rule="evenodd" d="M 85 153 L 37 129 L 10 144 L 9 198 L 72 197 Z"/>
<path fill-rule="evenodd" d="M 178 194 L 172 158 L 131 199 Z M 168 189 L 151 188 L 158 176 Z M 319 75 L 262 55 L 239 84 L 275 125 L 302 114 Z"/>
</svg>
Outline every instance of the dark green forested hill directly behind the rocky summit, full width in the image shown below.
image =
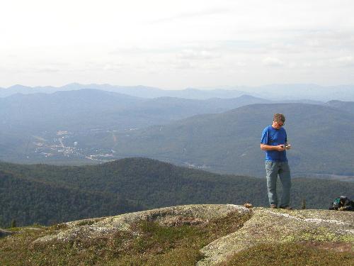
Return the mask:
<svg viewBox="0 0 354 266">
<path fill-rule="evenodd" d="M 180 204 L 268 206 L 265 179 L 221 175 L 157 160 L 127 158 L 103 165 L 57 167 L 0 163 L 1 225 L 51 224 Z M 327 209 L 354 184 L 294 179 L 292 204 Z"/>
</svg>

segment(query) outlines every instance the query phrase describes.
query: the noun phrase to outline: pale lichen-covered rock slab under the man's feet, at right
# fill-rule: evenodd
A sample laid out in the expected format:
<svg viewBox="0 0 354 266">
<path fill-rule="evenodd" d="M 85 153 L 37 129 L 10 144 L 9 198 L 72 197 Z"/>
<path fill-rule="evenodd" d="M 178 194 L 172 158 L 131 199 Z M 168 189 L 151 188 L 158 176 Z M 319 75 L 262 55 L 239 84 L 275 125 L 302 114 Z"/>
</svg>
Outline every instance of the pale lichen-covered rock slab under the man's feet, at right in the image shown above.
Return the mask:
<svg viewBox="0 0 354 266">
<path fill-rule="evenodd" d="M 346 243 L 354 248 L 354 213 L 327 210 L 287 211 L 255 208 L 239 231 L 202 248 L 198 266 L 217 265 L 241 250 L 261 243 Z"/>
</svg>

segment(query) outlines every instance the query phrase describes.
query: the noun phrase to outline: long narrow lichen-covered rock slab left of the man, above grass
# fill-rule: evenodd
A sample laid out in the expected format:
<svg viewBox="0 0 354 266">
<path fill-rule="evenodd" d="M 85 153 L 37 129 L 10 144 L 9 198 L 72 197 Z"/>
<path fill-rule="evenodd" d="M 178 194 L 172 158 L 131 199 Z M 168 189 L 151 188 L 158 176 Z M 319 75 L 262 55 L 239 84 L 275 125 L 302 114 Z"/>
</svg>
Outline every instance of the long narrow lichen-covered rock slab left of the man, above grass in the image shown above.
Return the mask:
<svg viewBox="0 0 354 266">
<path fill-rule="evenodd" d="M 207 223 L 213 218 L 222 218 L 238 211 L 239 215 L 249 214 L 244 206 L 232 204 L 202 204 L 172 206 L 149 211 L 138 211 L 104 218 L 84 219 L 64 223 L 56 234 L 46 235 L 33 242 L 34 245 L 50 241 L 72 242 L 84 238 L 98 238 L 113 235 L 118 231 L 131 231 L 131 226 L 139 221 L 155 221 L 163 226 L 181 226 L 183 224 Z"/>
</svg>

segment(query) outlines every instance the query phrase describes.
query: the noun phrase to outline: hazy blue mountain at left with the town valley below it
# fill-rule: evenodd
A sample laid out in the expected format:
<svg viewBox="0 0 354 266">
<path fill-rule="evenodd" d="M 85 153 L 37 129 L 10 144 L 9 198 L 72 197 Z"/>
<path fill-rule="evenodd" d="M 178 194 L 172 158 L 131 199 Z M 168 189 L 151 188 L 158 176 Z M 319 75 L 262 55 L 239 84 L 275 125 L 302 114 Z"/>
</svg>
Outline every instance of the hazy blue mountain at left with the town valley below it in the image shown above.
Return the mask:
<svg viewBox="0 0 354 266">
<path fill-rule="evenodd" d="M 235 99 L 178 99 L 161 97 L 143 99 L 97 89 L 81 89 L 53 94 L 14 94 L 0 98 L 0 158 L 12 162 L 89 163 L 87 155 L 96 150 L 111 152 L 107 145 L 97 147 L 87 143 L 102 143 L 115 131 L 130 132 L 156 124 L 171 123 L 199 113 L 220 113 L 238 106 L 270 102 L 253 96 Z M 63 148 L 62 135 L 79 142 L 79 157 L 67 160 L 57 150 Z M 63 140 L 65 142 L 65 140 Z M 107 151 L 108 149 L 108 151 Z M 50 155 L 49 157 L 44 157 Z M 43 161 L 45 159 L 45 161 Z M 73 160 L 74 159 L 74 160 Z"/>
</svg>

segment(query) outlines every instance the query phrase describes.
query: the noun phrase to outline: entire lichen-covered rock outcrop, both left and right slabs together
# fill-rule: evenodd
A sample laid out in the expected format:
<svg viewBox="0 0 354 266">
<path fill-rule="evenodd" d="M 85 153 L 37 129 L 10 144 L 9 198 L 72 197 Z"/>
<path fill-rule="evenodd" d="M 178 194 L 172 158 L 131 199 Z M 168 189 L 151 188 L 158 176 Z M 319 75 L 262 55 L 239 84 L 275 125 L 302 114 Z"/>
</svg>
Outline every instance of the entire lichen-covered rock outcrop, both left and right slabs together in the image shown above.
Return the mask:
<svg viewBox="0 0 354 266">
<path fill-rule="evenodd" d="M 130 231 L 133 223 L 155 221 L 164 226 L 198 225 L 229 214 L 248 220 L 238 230 L 224 235 L 201 249 L 198 266 L 217 265 L 241 250 L 260 243 L 316 243 L 334 250 L 354 251 L 354 212 L 328 210 L 247 209 L 236 205 L 173 206 L 119 216 L 91 218 L 62 223 L 52 235 L 33 242 L 69 242 L 83 238 Z"/>
</svg>

